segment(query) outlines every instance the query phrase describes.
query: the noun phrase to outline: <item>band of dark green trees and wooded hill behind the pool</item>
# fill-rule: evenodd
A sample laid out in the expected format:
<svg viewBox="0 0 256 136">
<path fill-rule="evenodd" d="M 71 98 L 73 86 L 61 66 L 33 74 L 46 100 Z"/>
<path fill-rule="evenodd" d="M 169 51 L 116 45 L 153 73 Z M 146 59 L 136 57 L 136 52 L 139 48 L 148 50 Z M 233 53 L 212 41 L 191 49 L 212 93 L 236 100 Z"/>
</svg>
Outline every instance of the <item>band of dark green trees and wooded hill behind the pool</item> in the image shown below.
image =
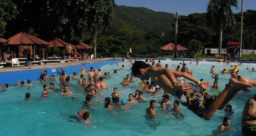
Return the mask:
<svg viewBox="0 0 256 136">
<path fill-rule="evenodd" d="M 255 18 L 255 10 L 244 12 L 243 49 L 255 49 Z M 235 13 L 234 25 L 223 28 L 224 48 L 229 40 L 240 41 L 240 20 L 240 13 Z M 218 47 L 218 29 L 207 21 L 207 13 L 180 16 L 177 44 L 191 49 L 196 45 L 196 50 Z M 118 6 L 112 0 L 0 1 L 0 36 L 9 38 L 21 31 L 45 41 L 57 37 L 95 45 L 94 51 L 102 56 L 125 56 L 129 47 L 135 55 L 159 56 L 161 46 L 174 42 L 174 15 Z"/>
</svg>

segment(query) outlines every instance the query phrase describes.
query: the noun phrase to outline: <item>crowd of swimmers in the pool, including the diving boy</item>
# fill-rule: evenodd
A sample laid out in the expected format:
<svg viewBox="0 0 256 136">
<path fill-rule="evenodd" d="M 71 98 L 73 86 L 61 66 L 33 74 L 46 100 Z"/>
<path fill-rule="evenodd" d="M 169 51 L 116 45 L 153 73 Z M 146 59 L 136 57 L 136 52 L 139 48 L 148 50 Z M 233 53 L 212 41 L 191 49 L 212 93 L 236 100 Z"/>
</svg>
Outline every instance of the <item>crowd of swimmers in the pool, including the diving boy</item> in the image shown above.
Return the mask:
<svg viewBox="0 0 256 136">
<path fill-rule="evenodd" d="M 129 103 L 140 103 L 149 101 L 149 107 L 146 108 L 146 116 L 150 118 L 157 117 L 157 112 L 155 111 L 157 107 L 157 101 L 155 100 L 147 100 L 144 97 L 144 93 L 158 94 L 161 90 L 163 90 L 162 101 L 158 101 L 159 107 L 162 110 L 169 111 L 176 117 L 183 117 L 182 110 L 179 107 L 179 104 L 182 104 L 188 109 L 192 110 L 194 114 L 198 115 L 205 120 L 210 120 L 215 114 L 217 109 L 225 108 L 225 118 L 223 119 L 223 123 L 218 126 L 219 132 L 224 131 L 235 131 L 235 129 L 228 129 L 227 126 L 230 126 L 231 120 L 227 116 L 233 115 L 232 106 L 229 103 L 229 100 L 235 96 L 235 94 L 243 90 L 247 87 L 256 86 L 255 80 L 249 80 L 247 78 L 241 77 L 238 75 L 238 70 L 236 70 L 236 66 L 234 69 L 230 70 L 230 81 L 226 84 L 224 90 L 221 91 L 220 94 L 214 95 L 209 94 L 207 92 L 207 87 L 211 86 L 211 83 L 208 81 L 204 81 L 201 79 L 200 81 L 193 77 L 193 70 L 189 70 L 186 63 L 180 63 L 182 67 L 172 65 L 175 70 L 171 70 L 168 68 L 168 64 L 165 67 L 162 67 L 161 61 L 158 60 L 158 63 L 155 64 L 154 60 L 148 60 L 148 62 L 152 62 L 152 64 L 145 63 L 143 61 L 134 61 L 132 63 L 132 74 L 126 75 L 123 78 L 123 81 L 120 83 L 121 86 L 129 86 L 131 83 L 135 83 L 135 77 L 143 80 L 138 86 L 141 88 L 135 90 L 134 93 L 130 93 L 127 96 L 127 100 L 122 96 L 123 99 L 120 100 L 121 95 L 118 92 L 118 87 L 113 88 L 113 92 L 111 94 L 112 97 L 104 98 L 104 107 L 111 112 L 115 112 L 117 108 L 119 109 L 129 109 L 131 106 Z M 198 64 L 199 61 L 197 61 Z M 118 65 L 118 64 L 117 64 Z M 124 65 L 120 67 L 120 70 L 125 70 Z M 60 95 L 72 95 L 73 91 L 69 90 L 68 84 L 71 83 L 71 80 L 77 80 L 77 84 L 80 86 L 80 90 L 86 93 L 84 106 L 90 106 L 94 103 L 91 102 L 93 98 L 99 99 L 98 94 L 101 93 L 102 89 L 108 89 L 107 82 L 104 81 L 104 78 L 110 77 L 110 72 L 102 72 L 101 69 L 94 70 L 94 67 L 91 67 L 88 72 L 86 72 L 85 68 L 82 67 L 80 71 L 80 78 L 77 77 L 77 73 L 73 73 L 72 76 L 67 76 L 66 71 L 63 67 L 58 70 L 60 78 Z M 116 74 L 117 70 L 113 72 Z M 218 74 L 215 73 L 215 66 L 212 66 L 210 69 L 210 73 L 212 73 L 212 78 L 215 79 L 212 88 L 218 89 Z M 87 75 L 87 78 L 85 78 Z M 54 75 L 51 75 L 48 78 L 47 70 L 41 70 L 40 74 L 40 82 L 43 83 L 42 90 L 42 98 L 48 98 L 49 94 L 57 90 L 54 87 Z M 193 81 L 194 84 L 186 82 L 186 80 Z M 44 84 L 45 81 L 50 81 L 50 86 Z M 33 86 L 30 80 L 27 81 L 17 81 L 16 85 L 19 86 Z M 2 86 L 2 90 L 6 90 L 8 88 L 8 84 L 4 84 Z M 193 94 L 193 95 L 191 95 Z M 176 100 L 173 101 L 173 106 L 171 106 L 171 101 L 169 101 L 170 97 L 177 97 Z M 191 98 L 190 96 L 194 96 Z M 220 96 L 220 97 L 219 97 Z M 27 93 L 25 95 L 26 100 L 30 100 L 30 94 Z M 197 104 L 194 104 L 197 101 Z M 128 103 L 128 104 L 127 104 Z M 244 117 L 246 119 L 243 125 L 243 130 L 252 130 L 252 126 L 256 126 L 255 123 L 255 97 L 254 103 L 248 104 L 247 110 L 253 112 L 247 113 L 247 116 Z M 251 109 L 250 109 L 251 106 Z M 88 109 L 82 109 L 77 112 L 79 115 L 77 120 L 81 123 L 84 123 L 87 126 L 90 126 L 91 114 Z M 249 119 L 248 119 L 249 118 Z M 249 128 L 249 129 L 248 129 Z M 252 131 L 253 132 L 253 131 Z"/>
</svg>

